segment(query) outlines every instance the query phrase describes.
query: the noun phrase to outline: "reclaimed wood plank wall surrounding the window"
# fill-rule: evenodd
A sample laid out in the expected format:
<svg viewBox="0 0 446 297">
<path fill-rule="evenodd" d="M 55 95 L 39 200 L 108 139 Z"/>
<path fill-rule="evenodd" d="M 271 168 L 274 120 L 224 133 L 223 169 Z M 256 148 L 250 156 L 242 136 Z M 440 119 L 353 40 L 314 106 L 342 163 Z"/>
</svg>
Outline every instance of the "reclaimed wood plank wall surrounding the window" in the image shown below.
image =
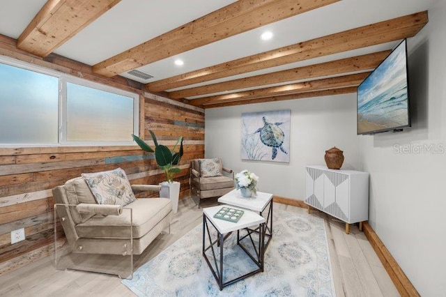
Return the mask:
<svg viewBox="0 0 446 297">
<path fill-rule="evenodd" d="M 15 48 L 15 40 L 1 35 L 0 54 L 139 93 L 140 136 L 151 139 L 148 129 L 152 129 L 168 146 L 178 136 L 185 139 L 182 170 L 175 179 L 181 183 L 180 197 L 189 195 L 190 160 L 204 156 L 203 109 L 144 93 L 141 84 L 130 79 L 94 75 L 90 66 L 55 54 L 45 59 L 27 54 Z M 153 155 L 136 145 L 0 148 L 0 276 L 54 252 L 52 188 L 83 172 L 116 167 L 125 170 L 132 184 L 165 179 Z M 148 194 L 137 193 L 137 197 L 154 196 Z M 25 229 L 26 239 L 11 244 L 10 231 L 20 228 Z"/>
</svg>

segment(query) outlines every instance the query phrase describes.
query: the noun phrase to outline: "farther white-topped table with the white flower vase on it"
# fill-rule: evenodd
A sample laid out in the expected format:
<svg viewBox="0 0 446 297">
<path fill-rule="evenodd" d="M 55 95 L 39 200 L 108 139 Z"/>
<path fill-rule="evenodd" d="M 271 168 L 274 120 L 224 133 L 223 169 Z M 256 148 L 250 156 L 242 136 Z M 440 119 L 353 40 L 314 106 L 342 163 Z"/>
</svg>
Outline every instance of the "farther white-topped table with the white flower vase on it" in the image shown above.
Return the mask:
<svg viewBox="0 0 446 297">
<path fill-rule="evenodd" d="M 256 195 L 253 195 L 250 198 L 245 198 L 240 193 L 240 190 L 234 189 L 226 195 L 220 197 L 218 201 L 223 204 L 229 204 L 231 206 L 238 206 L 250 211 L 256 211 L 262 217 L 263 213 L 268 213 L 265 224 L 265 236 L 268 237 L 268 240 L 265 243 L 265 250 L 268 248 L 272 238 L 272 194 L 257 191 Z M 267 207 L 268 209 L 266 210 Z"/>
</svg>

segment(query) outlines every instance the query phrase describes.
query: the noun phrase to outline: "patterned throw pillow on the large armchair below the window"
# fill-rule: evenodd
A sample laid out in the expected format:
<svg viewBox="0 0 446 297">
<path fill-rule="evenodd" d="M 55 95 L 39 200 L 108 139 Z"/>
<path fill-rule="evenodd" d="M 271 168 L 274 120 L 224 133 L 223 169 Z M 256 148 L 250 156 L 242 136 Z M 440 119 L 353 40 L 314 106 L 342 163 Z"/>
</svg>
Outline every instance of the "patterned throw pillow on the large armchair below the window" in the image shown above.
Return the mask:
<svg viewBox="0 0 446 297">
<path fill-rule="evenodd" d="M 117 168 L 108 172 L 82 174 L 98 204 L 122 205 L 132 203 L 134 197 L 125 172 Z"/>
</svg>

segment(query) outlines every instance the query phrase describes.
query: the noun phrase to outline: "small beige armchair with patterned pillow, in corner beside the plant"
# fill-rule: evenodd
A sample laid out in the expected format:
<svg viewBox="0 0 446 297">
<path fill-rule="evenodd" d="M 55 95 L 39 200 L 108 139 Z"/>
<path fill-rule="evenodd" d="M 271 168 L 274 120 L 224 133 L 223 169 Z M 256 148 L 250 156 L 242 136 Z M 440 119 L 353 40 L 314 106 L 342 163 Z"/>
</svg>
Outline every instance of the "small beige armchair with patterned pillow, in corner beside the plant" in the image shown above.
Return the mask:
<svg viewBox="0 0 446 297">
<path fill-rule="evenodd" d="M 190 165 L 191 195 L 201 199 L 220 197 L 234 189 L 234 174 L 220 158 L 196 159 Z"/>
</svg>

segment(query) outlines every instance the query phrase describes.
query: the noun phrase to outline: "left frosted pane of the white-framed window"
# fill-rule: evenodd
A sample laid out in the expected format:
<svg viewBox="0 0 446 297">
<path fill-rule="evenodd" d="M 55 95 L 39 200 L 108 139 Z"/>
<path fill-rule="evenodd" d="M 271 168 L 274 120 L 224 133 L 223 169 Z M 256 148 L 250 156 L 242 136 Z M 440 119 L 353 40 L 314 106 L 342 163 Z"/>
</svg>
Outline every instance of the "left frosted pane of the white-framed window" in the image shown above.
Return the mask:
<svg viewBox="0 0 446 297">
<path fill-rule="evenodd" d="M 0 63 L 1 144 L 57 144 L 59 78 Z"/>
</svg>

